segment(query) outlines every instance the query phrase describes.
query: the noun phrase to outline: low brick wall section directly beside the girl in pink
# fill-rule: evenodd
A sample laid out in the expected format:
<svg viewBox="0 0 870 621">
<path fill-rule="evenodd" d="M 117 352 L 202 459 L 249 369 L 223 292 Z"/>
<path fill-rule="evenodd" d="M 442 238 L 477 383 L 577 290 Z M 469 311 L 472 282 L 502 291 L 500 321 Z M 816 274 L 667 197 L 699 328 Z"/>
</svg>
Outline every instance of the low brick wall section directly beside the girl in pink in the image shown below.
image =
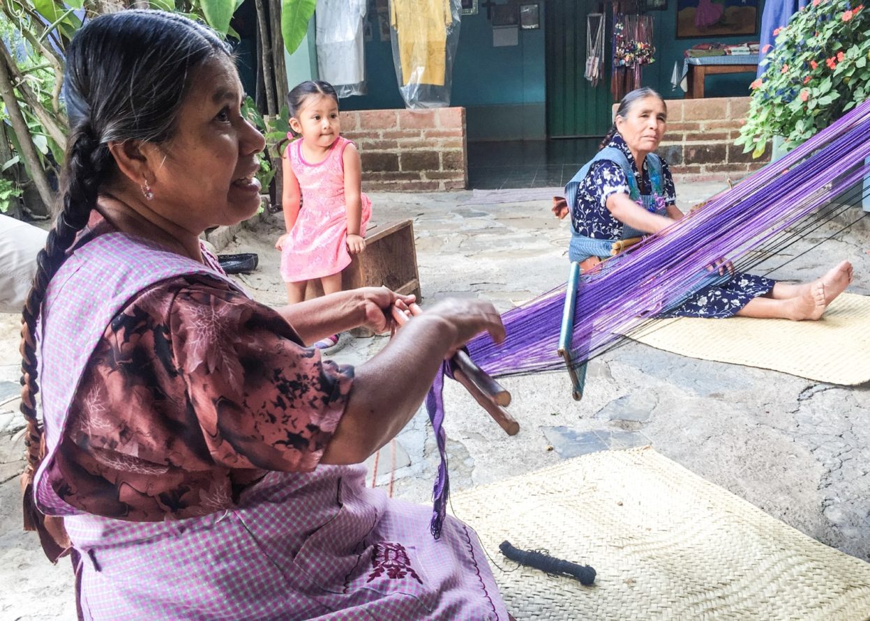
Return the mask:
<svg viewBox="0 0 870 621">
<path fill-rule="evenodd" d="M 341 133 L 357 144 L 363 190 L 465 189 L 465 109 L 358 110 L 341 113 Z"/>
</svg>

